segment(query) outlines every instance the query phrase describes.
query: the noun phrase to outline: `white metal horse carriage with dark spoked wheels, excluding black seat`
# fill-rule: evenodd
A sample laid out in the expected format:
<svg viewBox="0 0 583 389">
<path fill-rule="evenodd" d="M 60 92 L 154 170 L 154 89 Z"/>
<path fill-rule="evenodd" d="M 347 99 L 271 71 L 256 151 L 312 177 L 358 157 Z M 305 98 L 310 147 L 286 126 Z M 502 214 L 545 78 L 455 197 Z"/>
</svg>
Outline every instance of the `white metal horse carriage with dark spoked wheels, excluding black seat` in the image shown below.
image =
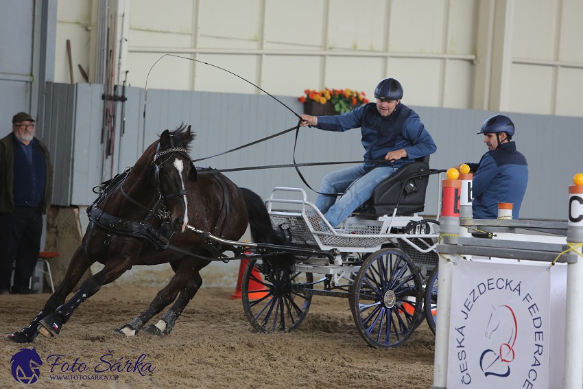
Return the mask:
<svg viewBox="0 0 583 389">
<path fill-rule="evenodd" d="M 398 216 L 395 209 L 393 215 L 353 215 L 337 229 L 300 188 L 276 187 L 266 205 L 289 241 L 283 251 L 300 261 L 285 274 L 250 259 L 241 296 L 254 329 L 292 331 L 314 295 L 334 296 L 348 298 L 357 330 L 370 346 L 388 349 L 407 341 L 425 317 L 425 279 L 438 263 L 436 220 Z M 254 245 L 256 252 L 273 249 Z"/>
</svg>

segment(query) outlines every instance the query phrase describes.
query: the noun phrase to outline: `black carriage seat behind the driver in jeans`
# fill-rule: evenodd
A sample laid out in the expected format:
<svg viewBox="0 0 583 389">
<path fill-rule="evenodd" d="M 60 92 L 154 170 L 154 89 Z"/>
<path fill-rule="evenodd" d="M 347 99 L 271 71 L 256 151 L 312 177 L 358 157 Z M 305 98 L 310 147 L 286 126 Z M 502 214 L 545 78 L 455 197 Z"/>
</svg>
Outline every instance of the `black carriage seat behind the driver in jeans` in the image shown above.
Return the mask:
<svg viewBox="0 0 583 389">
<path fill-rule="evenodd" d="M 419 174 L 423 176 L 415 178 Z M 398 216 L 423 212 L 425 191 L 429 182 L 427 174 L 429 174 L 429 156 L 407 163 L 377 185 L 372 197 L 362 204 L 357 212 L 369 215 L 390 215 L 395 207 L 397 207 L 396 215 Z M 403 185 L 405 185 L 404 188 Z M 401 191 L 403 191 L 402 195 Z M 400 200 L 399 196 L 401 196 Z"/>
</svg>

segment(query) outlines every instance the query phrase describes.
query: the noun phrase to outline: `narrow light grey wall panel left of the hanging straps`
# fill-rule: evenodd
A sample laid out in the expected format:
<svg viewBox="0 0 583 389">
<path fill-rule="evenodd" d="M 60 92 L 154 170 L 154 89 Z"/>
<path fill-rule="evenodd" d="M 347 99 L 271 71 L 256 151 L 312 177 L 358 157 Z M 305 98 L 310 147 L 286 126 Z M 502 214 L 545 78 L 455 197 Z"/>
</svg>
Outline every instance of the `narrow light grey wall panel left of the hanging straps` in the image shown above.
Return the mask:
<svg viewBox="0 0 583 389">
<path fill-rule="evenodd" d="M 101 85 L 77 84 L 71 204 L 91 204 L 92 188 L 102 182 L 103 150 Z"/>
</svg>

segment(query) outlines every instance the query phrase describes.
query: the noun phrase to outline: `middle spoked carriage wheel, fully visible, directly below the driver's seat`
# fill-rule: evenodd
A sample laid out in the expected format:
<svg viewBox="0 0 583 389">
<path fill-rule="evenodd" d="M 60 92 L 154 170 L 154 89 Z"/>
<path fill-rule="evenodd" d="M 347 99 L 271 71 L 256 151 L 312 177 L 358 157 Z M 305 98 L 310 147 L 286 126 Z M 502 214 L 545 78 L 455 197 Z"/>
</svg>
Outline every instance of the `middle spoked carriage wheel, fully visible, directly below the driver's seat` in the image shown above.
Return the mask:
<svg viewBox="0 0 583 389">
<path fill-rule="evenodd" d="M 350 310 L 362 338 L 377 349 L 403 344 L 423 310 L 421 276 L 407 255 L 381 248 L 362 263 Z"/>
</svg>

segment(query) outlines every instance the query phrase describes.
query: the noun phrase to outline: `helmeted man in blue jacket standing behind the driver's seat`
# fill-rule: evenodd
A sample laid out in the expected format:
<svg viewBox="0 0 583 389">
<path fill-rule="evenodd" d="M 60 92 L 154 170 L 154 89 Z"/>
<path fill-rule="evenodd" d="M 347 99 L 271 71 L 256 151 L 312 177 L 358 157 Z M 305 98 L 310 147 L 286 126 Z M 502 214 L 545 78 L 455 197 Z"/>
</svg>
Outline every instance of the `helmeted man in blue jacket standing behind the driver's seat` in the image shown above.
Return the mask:
<svg viewBox="0 0 583 389">
<path fill-rule="evenodd" d="M 518 219 L 528 183 L 528 165 L 511 141 L 514 123 L 508 116 L 494 115 L 484 121 L 478 134 L 484 134 L 488 152 L 479 163 L 467 164 L 474 172 L 474 219 L 496 219 L 499 202 L 512 202 L 512 219 Z"/>
</svg>

